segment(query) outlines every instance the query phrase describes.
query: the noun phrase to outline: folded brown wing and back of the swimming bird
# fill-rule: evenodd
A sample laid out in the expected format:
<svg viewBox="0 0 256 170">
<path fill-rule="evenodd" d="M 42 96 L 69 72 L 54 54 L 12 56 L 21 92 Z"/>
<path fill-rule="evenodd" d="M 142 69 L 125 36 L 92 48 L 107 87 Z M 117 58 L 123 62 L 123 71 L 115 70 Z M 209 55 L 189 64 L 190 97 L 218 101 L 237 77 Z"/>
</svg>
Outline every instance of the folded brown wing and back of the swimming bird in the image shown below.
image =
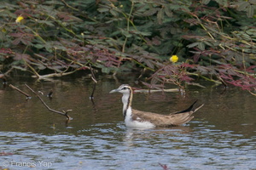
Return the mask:
<svg viewBox="0 0 256 170">
<path fill-rule="evenodd" d="M 156 127 L 178 126 L 189 122 L 194 116 L 194 111 L 183 112 L 175 115 L 159 115 L 152 112 L 132 110 L 132 119 L 139 122 L 151 122 Z"/>
</svg>

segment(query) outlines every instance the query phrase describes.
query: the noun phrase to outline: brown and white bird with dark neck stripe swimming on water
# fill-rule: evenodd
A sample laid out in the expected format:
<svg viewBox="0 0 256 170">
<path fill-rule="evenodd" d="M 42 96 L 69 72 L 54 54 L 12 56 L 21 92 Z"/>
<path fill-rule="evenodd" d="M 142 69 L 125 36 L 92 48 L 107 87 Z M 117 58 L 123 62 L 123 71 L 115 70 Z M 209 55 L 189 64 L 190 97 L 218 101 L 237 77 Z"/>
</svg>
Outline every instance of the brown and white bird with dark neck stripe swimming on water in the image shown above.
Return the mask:
<svg viewBox="0 0 256 170">
<path fill-rule="evenodd" d="M 172 127 L 189 122 L 194 118 L 192 114 L 199 110 L 203 105 L 194 109 L 191 105 L 184 111 L 174 112 L 170 115 L 160 115 L 152 112 L 137 111 L 131 109 L 132 88 L 128 84 L 123 84 L 117 89 L 113 89 L 109 93 L 119 92 L 123 94 L 123 116 L 127 127 Z M 196 102 L 196 101 L 195 101 Z"/>
</svg>

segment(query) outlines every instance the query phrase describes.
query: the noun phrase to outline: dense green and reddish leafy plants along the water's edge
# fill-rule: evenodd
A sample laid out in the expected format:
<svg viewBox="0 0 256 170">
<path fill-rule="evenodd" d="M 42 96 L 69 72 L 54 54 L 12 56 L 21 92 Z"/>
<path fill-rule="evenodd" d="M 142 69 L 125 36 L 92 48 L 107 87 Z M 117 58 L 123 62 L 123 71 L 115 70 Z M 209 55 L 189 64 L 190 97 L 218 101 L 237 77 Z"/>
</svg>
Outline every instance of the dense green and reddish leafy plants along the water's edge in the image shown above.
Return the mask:
<svg viewBox="0 0 256 170">
<path fill-rule="evenodd" d="M 151 88 L 195 77 L 253 90 L 254 1 L 20 0 L 1 2 L 0 60 L 63 75 L 143 68 Z M 22 18 L 19 18 L 22 17 Z M 169 57 L 177 54 L 177 63 Z M 194 83 L 195 84 L 195 83 Z"/>
</svg>

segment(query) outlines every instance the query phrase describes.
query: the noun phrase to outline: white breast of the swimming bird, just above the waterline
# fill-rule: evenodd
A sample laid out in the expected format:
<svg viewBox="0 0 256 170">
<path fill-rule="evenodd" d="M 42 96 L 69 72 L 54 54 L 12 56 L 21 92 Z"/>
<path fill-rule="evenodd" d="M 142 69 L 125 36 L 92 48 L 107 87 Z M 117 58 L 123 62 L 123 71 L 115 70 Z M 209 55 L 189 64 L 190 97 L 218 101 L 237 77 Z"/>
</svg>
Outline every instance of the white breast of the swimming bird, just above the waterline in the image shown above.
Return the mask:
<svg viewBox="0 0 256 170">
<path fill-rule="evenodd" d="M 154 128 L 154 124 L 151 122 L 140 122 L 140 120 L 132 120 L 131 119 L 131 107 L 129 107 L 126 111 L 125 116 L 125 125 L 126 127 L 140 127 L 140 128 Z"/>
</svg>

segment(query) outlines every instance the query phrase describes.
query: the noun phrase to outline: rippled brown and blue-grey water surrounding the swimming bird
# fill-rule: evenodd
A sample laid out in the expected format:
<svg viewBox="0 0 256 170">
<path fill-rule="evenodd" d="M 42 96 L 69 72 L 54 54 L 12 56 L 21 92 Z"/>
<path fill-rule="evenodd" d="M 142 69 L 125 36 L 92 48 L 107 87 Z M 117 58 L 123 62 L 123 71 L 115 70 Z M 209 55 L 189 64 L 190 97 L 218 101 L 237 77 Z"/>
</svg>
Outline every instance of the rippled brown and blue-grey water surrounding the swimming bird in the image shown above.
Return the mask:
<svg viewBox="0 0 256 170">
<path fill-rule="evenodd" d="M 26 100 L 1 87 L 0 169 L 256 169 L 255 97 L 245 91 L 135 94 L 133 107 L 142 111 L 179 111 L 195 99 L 205 106 L 182 127 L 132 129 L 123 122 L 121 94 L 108 94 L 120 82 L 103 77 L 94 105 L 85 77 L 11 83 L 44 92 L 52 109 L 72 109 L 73 120 L 47 111 L 34 96 Z"/>
</svg>

